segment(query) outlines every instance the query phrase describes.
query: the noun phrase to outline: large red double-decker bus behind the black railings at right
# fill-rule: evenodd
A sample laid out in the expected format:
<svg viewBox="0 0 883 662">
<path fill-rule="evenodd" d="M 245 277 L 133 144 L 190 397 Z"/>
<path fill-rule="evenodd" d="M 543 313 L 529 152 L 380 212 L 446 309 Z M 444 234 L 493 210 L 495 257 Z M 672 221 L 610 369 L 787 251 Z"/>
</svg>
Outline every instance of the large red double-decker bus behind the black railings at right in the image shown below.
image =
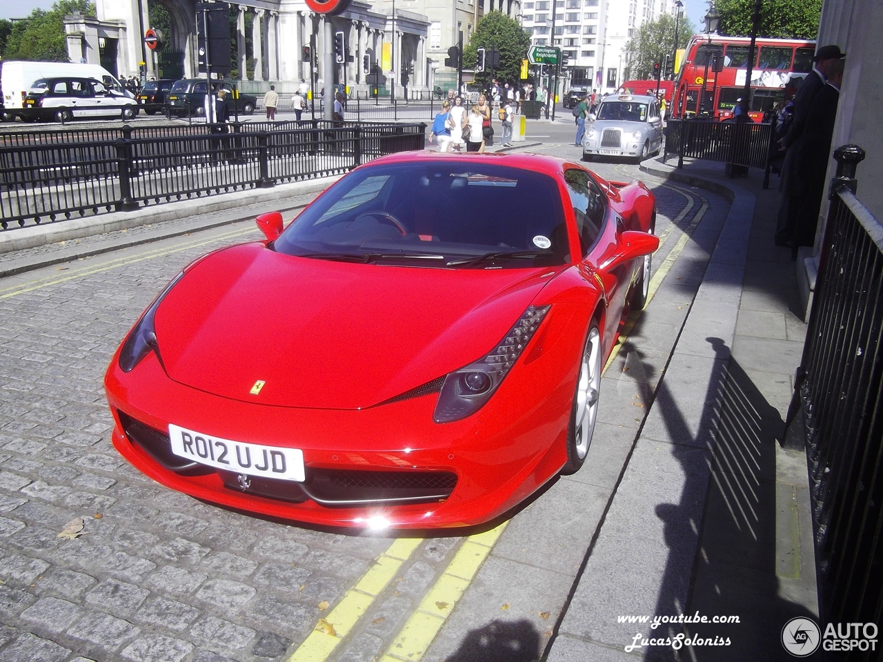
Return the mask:
<svg viewBox="0 0 883 662">
<path fill-rule="evenodd" d="M 687 45 L 678 75 L 672 114 L 714 119 L 733 117 L 737 100 L 745 90 L 750 46 L 748 37 L 712 34 L 709 41 L 706 34 L 694 36 Z M 759 122 L 766 110 L 796 94 L 806 74 L 812 71 L 815 52 L 815 41 L 758 37 L 751 64 L 749 115 L 752 120 Z M 703 89 L 705 103 L 700 99 Z"/>
</svg>

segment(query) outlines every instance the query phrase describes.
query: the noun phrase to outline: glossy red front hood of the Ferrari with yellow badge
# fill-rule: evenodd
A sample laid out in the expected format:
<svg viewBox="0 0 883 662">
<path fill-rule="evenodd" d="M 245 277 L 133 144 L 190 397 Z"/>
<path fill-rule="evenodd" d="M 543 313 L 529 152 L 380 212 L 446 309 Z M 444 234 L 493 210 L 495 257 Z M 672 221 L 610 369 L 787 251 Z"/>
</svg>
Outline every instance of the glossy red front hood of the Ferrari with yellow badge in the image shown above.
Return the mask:
<svg viewBox="0 0 883 662">
<path fill-rule="evenodd" d="M 353 410 L 487 354 L 550 271 L 353 264 L 245 244 L 188 270 L 156 312 L 156 335 L 166 372 L 190 387 Z"/>
</svg>

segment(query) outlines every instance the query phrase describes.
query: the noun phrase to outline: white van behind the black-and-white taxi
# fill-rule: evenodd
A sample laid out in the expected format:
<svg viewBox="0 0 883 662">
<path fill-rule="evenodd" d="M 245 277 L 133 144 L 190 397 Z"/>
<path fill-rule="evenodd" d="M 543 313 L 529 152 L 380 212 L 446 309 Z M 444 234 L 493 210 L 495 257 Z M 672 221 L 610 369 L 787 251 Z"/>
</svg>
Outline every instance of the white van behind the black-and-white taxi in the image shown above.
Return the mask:
<svg viewBox="0 0 883 662">
<path fill-rule="evenodd" d="M 37 79 L 49 79 L 64 76 L 94 79 L 102 82 L 104 87 L 125 94 L 132 99 L 134 95 L 120 85 L 119 80 L 100 64 L 72 64 L 69 62 L 22 62 L 17 60 L 0 62 L 0 94 L 3 109 L 0 118 L 4 121 L 15 119 L 17 110 Z"/>
</svg>

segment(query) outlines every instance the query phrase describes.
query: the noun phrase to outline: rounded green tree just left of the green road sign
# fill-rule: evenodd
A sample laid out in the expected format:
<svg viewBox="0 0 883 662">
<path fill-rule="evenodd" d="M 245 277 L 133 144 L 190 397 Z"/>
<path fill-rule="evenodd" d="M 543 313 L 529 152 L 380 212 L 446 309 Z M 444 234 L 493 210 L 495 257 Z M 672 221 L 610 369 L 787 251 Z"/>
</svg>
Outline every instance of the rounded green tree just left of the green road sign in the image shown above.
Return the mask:
<svg viewBox="0 0 883 662">
<path fill-rule="evenodd" d="M 463 48 L 463 66 L 474 69 L 476 51 L 479 48 L 487 51 L 495 48 L 500 51 L 500 64 L 494 67 L 494 78 L 517 83 L 521 75 L 521 61 L 527 57 L 530 45 L 530 35 L 518 25 L 516 19 L 510 19 L 502 11 L 489 11 L 479 19 L 479 24 L 472 31 L 472 39 Z M 491 73 L 476 73 L 475 79 L 484 87 L 491 82 Z"/>
</svg>

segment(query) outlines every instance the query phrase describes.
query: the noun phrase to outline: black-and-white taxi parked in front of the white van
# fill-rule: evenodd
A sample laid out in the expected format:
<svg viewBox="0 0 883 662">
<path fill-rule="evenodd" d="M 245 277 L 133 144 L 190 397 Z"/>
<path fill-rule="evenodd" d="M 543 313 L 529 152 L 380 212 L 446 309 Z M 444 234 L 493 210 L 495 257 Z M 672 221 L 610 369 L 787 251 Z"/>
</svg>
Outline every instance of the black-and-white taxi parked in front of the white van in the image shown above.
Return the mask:
<svg viewBox="0 0 883 662">
<path fill-rule="evenodd" d="M 138 102 L 95 79 L 39 79 L 28 90 L 19 115 L 26 122 L 36 119 L 67 122 L 95 117 L 132 119 L 138 115 Z"/>
</svg>

